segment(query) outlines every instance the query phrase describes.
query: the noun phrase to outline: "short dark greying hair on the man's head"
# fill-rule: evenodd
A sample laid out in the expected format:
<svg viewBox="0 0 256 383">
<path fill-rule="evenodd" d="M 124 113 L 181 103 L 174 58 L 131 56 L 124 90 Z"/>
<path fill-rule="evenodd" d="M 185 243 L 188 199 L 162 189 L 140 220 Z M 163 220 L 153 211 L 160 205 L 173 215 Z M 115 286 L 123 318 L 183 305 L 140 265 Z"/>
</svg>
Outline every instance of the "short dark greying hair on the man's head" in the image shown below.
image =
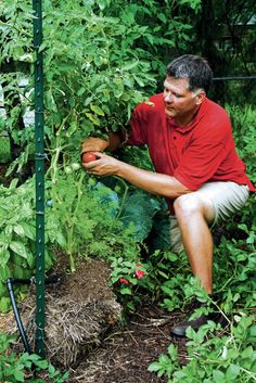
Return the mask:
<svg viewBox="0 0 256 383">
<path fill-rule="evenodd" d="M 194 54 L 183 54 L 167 66 L 166 76 L 188 78 L 189 90 L 204 89 L 207 92 L 212 84 L 213 71 L 205 59 Z"/>
</svg>

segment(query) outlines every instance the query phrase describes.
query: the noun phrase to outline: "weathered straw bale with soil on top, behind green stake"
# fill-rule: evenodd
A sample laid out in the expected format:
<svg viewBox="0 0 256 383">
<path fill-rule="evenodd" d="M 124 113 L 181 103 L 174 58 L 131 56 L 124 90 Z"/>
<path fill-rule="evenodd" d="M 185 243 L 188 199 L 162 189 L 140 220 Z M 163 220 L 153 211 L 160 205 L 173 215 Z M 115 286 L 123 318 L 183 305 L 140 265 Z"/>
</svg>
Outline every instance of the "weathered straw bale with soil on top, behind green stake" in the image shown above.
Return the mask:
<svg viewBox="0 0 256 383">
<path fill-rule="evenodd" d="M 71 368 L 101 343 L 102 336 L 121 316 L 121 307 L 108 286 L 110 271 L 101 260 L 80 260 L 76 272 L 62 273 L 60 282 L 47 286 L 46 350 L 54 365 Z M 34 347 L 35 288 L 20 305 L 20 312 Z M 10 325 L 11 324 L 11 325 Z M 15 331 L 9 323 L 9 332 Z"/>
</svg>

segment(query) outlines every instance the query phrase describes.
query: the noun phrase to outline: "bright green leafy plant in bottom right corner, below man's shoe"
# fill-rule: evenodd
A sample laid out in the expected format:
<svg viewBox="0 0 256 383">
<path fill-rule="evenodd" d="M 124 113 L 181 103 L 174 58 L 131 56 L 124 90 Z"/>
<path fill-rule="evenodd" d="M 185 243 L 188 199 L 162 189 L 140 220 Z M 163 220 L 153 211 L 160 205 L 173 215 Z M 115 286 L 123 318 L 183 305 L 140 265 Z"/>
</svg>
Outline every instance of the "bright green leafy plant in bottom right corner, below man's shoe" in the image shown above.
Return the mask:
<svg viewBox="0 0 256 383">
<path fill-rule="evenodd" d="M 180 366 L 174 345 L 149 370 L 166 375 L 167 383 L 229 383 L 256 381 L 256 325 L 253 316 L 240 315 L 231 323 L 230 334 L 214 336 L 218 327 L 204 324 L 197 332 L 187 330 L 188 363 Z"/>
</svg>

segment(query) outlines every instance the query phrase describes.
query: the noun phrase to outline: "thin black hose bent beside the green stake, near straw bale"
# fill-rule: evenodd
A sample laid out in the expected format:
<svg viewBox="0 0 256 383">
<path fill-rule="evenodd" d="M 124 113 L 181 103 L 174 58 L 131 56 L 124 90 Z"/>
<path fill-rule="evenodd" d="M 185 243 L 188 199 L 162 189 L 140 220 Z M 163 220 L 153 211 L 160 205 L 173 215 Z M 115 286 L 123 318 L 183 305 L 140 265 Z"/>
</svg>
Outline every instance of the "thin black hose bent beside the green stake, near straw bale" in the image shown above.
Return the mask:
<svg viewBox="0 0 256 383">
<path fill-rule="evenodd" d="M 46 284 L 50 284 L 50 283 L 56 283 L 59 281 L 60 281 L 60 278 L 57 276 L 53 276 L 53 277 L 47 278 L 44 282 L 46 282 Z M 13 291 L 13 283 L 35 284 L 36 280 L 35 280 L 35 278 L 31 278 L 31 279 L 9 278 L 8 279 L 8 291 L 9 291 L 9 295 L 10 295 L 11 303 L 12 303 L 13 314 L 14 314 L 14 317 L 15 317 L 15 320 L 17 323 L 17 329 L 20 331 L 25 350 L 28 354 L 31 354 L 31 348 L 28 343 L 27 334 L 26 334 L 26 331 L 24 330 L 23 322 L 22 322 L 22 319 L 21 319 L 21 316 L 20 316 L 20 312 L 17 309 L 16 299 L 15 299 L 15 295 L 14 295 L 14 291 Z"/>
</svg>

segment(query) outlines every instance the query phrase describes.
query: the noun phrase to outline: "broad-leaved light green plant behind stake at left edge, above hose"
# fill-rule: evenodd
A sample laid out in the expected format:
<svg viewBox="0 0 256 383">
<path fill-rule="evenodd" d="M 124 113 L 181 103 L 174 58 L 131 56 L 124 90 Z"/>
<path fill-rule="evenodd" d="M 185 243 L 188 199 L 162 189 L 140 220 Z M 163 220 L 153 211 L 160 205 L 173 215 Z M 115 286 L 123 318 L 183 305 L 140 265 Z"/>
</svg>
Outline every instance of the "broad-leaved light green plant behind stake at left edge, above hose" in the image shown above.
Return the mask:
<svg viewBox="0 0 256 383">
<path fill-rule="evenodd" d="M 9 188 L 0 187 L 0 311 L 10 309 L 8 278 L 29 279 L 35 273 L 36 220 L 34 178 L 17 187 L 14 179 Z M 59 231 L 57 220 L 48 210 L 46 224 L 46 270 L 53 264 L 53 244 L 65 241 Z M 55 234 L 53 235 L 53 232 Z M 21 288 L 22 290 L 24 288 Z M 20 289 L 20 291 L 22 291 Z"/>
</svg>

